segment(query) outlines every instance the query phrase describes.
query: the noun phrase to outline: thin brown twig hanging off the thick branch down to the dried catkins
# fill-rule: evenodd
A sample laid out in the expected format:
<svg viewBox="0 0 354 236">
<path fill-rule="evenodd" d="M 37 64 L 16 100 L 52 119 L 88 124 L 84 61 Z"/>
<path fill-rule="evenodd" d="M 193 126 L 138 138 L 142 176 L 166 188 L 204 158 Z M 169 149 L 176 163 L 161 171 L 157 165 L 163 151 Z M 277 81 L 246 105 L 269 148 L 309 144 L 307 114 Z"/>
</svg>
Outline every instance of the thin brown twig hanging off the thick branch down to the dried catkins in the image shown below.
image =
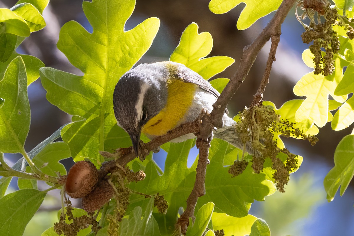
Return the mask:
<svg viewBox="0 0 354 236">
<path fill-rule="evenodd" d="M 280 34 L 272 35 L 272 46 L 270 46 L 270 52 L 268 55 L 267 64 L 265 66 L 263 78 L 261 83 L 259 84 L 257 93 L 253 96 L 253 102 L 251 104 L 251 107 L 260 105 L 262 102 L 265 87 L 267 87 L 269 83 L 270 71 L 272 70 L 273 61 L 275 61 L 275 53 L 276 53 L 276 48 L 278 48 L 279 41 L 280 41 Z"/>
</svg>

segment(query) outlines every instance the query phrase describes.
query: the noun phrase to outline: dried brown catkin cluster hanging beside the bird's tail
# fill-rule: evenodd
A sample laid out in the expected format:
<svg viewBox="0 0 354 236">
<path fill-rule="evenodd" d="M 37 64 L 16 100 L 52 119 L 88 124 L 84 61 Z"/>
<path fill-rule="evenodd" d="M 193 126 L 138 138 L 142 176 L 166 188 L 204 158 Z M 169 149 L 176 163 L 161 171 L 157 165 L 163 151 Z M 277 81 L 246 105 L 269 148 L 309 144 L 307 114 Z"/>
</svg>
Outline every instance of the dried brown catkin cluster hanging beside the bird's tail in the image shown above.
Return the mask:
<svg viewBox="0 0 354 236">
<path fill-rule="evenodd" d="M 252 169 L 255 173 L 261 173 L 265 158 L 273 162 L 275 170 L 273 178 L 280 192 L 285 192 L 284 185 L 289 182 L 290 173 L 297 169 L 297 155 L 292 154 L 286 148 L 280 149 L 277 145 L 276 136 L 295 136 L 308 140 L 312 145 L 317 141 L 314 136 L 305 135 L 300 129 L 293 127 L 294 123 L 281 120 L 273 109 L 265 106 L 255 106 L 245 109 L 239 114 L 239 122 L 236 132 L 243 138 L 243 142 L 251 142 L 255 154 L 252 157 Z M 287 155 L 287 160 L 282 161 L 279 153 Z M 235 160 L 230 166 L 229 173 L 233 176 L 240 175 L 247 167 L 248 162 L 244 159 Z"/>
</svg>

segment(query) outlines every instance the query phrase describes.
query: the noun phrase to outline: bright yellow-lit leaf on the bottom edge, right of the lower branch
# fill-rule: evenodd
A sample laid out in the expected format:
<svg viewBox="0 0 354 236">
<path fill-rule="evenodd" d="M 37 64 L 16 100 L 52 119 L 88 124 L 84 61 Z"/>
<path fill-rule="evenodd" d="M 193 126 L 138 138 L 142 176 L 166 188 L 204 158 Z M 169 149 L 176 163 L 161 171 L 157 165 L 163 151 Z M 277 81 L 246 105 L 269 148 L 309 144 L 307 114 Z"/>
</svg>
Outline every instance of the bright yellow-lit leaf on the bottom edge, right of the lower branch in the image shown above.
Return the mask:
<svg viewBox="0 0 354 236">
<path fill-rule="evenodd" d="M 213 230 L 224 230 L 225 235 L 244 236 L 250 234 L 252 224 L 258 218 L 252 215 L 237 218 L 225 213 L 214 212 L 211 217 Z"/>
</svg>

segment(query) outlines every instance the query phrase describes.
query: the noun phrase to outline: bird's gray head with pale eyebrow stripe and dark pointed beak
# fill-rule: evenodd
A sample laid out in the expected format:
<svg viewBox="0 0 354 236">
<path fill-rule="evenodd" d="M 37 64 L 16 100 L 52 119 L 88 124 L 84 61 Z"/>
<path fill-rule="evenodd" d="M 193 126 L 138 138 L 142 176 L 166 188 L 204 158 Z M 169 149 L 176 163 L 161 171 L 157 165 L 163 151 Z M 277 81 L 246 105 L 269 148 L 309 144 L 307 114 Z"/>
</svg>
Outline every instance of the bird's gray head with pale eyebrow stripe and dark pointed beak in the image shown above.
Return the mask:
<svg viewBox="0 0 354 236">
<path fill-rule="evenodd" d="M 113 93 L 115 118 L 130 135 L 136 155 L 141 128 L 161 111 L 167 100 L 165 75 L 151 65 L 141 64 L 125 73 Z"/>
</svg>

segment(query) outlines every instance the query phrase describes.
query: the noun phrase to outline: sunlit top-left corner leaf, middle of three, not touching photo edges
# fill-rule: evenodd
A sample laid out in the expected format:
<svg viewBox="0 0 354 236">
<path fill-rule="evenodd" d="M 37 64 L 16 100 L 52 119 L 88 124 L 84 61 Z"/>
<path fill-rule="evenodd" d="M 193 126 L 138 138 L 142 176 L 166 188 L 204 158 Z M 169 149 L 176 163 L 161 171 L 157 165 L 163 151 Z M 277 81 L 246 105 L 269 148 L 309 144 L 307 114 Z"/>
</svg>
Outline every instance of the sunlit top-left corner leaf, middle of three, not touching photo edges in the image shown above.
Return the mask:
<svg viewBox="0 0 354 236">
<path fill-rule="evenodd" d="M 31 32 L 43 29 L 46 26 L 42 14 L 30 3 L 23 2 L 11 7 L 17 16 L 22 17 L 27 22 Z"/>
</svg>

